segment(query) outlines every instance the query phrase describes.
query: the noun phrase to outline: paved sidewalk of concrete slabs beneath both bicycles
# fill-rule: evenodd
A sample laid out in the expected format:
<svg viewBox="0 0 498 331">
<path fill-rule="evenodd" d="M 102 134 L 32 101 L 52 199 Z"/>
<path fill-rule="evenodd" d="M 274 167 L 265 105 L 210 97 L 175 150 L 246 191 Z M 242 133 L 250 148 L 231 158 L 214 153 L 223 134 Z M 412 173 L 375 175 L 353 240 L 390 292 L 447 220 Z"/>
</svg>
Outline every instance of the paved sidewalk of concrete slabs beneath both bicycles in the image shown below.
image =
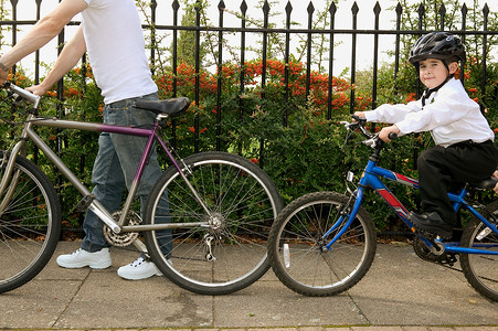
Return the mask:
<svg viewBox="0 0 498 331">
<path fill-rule="evenodd" d="M 120 279 L 137 253 L 113 248 L 106 270 L 63 269 L 55 256 L 28 285 L 0 295 L 2 329 L 243 329 L 257 331 L 498 331 L 498 302 L 480 297 L 462 273 L 424 261 L 411 246 L 379 245 L 372 268 L 348 292 L 309 298 L 272 271 L 221 297 L 186 291 L 163 277 Z"/>
</svg>

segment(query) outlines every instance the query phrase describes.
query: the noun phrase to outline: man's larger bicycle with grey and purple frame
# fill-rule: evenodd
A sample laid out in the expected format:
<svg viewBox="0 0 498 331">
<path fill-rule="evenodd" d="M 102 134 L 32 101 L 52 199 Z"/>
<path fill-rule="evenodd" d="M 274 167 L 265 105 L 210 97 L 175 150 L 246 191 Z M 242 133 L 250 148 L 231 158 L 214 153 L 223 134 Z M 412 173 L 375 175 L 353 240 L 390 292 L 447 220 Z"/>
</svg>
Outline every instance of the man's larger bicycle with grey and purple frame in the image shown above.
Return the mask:
<svg viewBox="0 0 498 331">
<path fill-rule="evenodd" d="M 105 223 L 109 244 L 135 244 L 176 285 L 201 295 L 226 295 L 250 286 L 269 269 L 267 236 L 283 207 L 269 177 L 253 162 L 226 152 L 201 152 L 177 160 L 168 140 L 159 136 L 165 119 L 187 110 L 188 98 L 137 100 L 137 108 L 157 115 L 152 128 L 137 128 L 41 117 L 41 97 L 9 83 L 4 90 L 4 102 L 12 102 L 17 115 L 23 114 L 18 122 L 23 130 L 10 151 L 0 152 L 0 292 L 36 276 L 53 255 L 61 234 L 56 190 L 43 170 L 29 160 L 28 140 L 82 194 L 77 210 L 91 210 Z M 106 211 L 34 131 L 38 126 L 147 138 L 123 210 Z M 156 145 L 166 152 L 171 167 L 149 193 L 140 218 L 131 206 Z M 170 247 L 167 254 L 161 252 L 162 245 Z"/>
</svg>

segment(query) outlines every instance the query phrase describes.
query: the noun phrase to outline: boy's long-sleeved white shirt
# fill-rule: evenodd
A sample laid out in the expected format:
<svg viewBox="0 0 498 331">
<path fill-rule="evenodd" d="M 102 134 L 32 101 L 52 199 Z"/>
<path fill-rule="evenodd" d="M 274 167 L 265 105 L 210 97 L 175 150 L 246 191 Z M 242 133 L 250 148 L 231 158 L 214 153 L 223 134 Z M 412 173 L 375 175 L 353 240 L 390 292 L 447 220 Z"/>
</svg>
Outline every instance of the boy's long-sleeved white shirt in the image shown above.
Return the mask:
<svg viewBox="0 0 498 331">
<path fill-rule="evenodd" d="M 364 115 L 368 121 L 395 124 L 402 135 L 431 131 L 434 142 L 443 147 L 465 140 L 495 139 L 479 105 L 455 78 L 431 94 L 424 107 L 418 99 L 406 105 L 382 105 Z"/>
</svg>

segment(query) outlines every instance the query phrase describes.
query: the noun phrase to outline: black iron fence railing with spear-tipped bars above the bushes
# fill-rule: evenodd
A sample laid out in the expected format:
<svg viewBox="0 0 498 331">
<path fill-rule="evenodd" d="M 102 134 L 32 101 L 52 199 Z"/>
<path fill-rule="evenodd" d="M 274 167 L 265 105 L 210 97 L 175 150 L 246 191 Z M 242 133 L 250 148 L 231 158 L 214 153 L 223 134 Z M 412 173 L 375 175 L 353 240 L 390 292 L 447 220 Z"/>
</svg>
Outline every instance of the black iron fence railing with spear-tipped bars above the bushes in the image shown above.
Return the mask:
<svg viewBox="0 0 498 331">
<path fill-rule="evenodd" d="M 6 1 L 2 1 L 6 2 Z M 42 4 L 44 2 L 49 2 L 47 0 L 35 0 L 35 8 L 34 8 L 34 12 L 33 12 L 33 20 L 18 20 L 18 12 L 19 12 L 19 7 L 25 6 L 27 1 L 22 1 L 22 0 L 10 0 L 10 4 L 11 4 L 11 20 L 3 20 L 0 21 L 0 25 L 2 28 L 9 26 L 11 28 L 11 43 L 15 44 L 18 41 L 18 34 L 19 34 L 19 30 L 21 26 L 23 25 L 33 25 L 41 17 L 41 11 L 42 11 Z M 350 54 L 350 76 L 348 77 L 350 79 L 351 85 L 356 84 L 356 75 L 357 75 L 357 57 L 358 57 L 358 36 L 359 35 L 371 35 L 373 38 L 373 50 L 371 50 L 372 54 L 373 54 L 373 60 L 372 60 L 372 75 L 373 75 L 373 84 L 372 84 L 372 108 L 377 107 L 377 100 L 378 100 L 378 95 L 377 95 L 377 83 L 378 83 L 378 70 L 379 70 L 379 36 L 380 35 L 393 35 L 395 36 L 395 42 L 393 45 L 394 49 L 394 63 L 395 63 L 395 71 L 394 71 L 394 75 L 398 74 L 399 68 L 400 68 L 400 51 L 401 51 L 401 36 L 402 35 L 420 35 L 424 32 L 426 32 L 426 30 L 424 29 L 424 22 L 425 22 L 425 14 L 426 14 L 426 10 L 424 4 L 420 4 L 418 9 L 417 9 L 417 22 L 418 22 L 418 26 L 416 30 L 402 30 L 402 14 L 403 14 L 403 8 L 400 3 L 398 3 L 398 6 L 395 7 L 395 22 L 394 29 L 390 29 L 390 30 L 382 30 L 380 29 L 380 19 L 381 19 L 381 7 L 379 4 L 379 2 L 377 2 L 377 4 L 373 8 L 373 24 L 374 28 L 373 29 L 358 29 L 358 17 L 359 17 L 359 6 L 357 2 L 353 2 L 352 7 L 351 7 L 351 29 L 337 29 L 336 28 L 336 22 L 338 21 L 338 17 L 337 17 L 337 12 L 338 12 L 338 4 L 336 3 L 331 3 L 326 10 L 328 11 L 328 28 L 327 29 L 314 29 L 314 13 L 316 11 L 315 6 L 312 3 L 312 1 L 309 2 L 308 7 L 307 7 L 307 22 L 306 25 L 307 28 L 292 28 L 293 26 L 293 20 L 295 19 L 296 15 L 303 15 L 303 13 L 295 13 L 293 10 L 293 4 L 292 1 L 288 1 L 286 7 L 285 7 L 285 28 L 269 28 L 269 19 L 271 19 L 271 14 L 272 14 L 272 8 L 268 3 L 268 1 L 266 0 L 264 2 L 264 6 L 262 7 L 262 12 L 263 12 L 263 20 L 262 20 L 262 26 L 259 28 L 251 28 L 247 26 L 247 21 L 246 21 L 246 12 L 248 9 L 247 2 L 245 0 L 242 0 L 241 4 L 240 4 L 240 26 L 224 26 L 224 17 L 225 17 L 225 11 L 226 11 L 226 6 L 225 2 L 223 0 L 220 0 L 220 2 L 218 3 L 218 25 L 202 25 L 201 24 L 201 10 L 200 7 L 197 7 L 195 9 L 195 24 L 193 26 L 182 26 L 180 25 L 179 19 L 180 14 L 181 14 L 181 6 L 180 2 L 178 0 L 173 0 L 173 1 L 161 1 L 159 0 L 159 2 L 162 2 L 162 4 L 165 2 L 170 2 L 171 3 L 171 12 L 172 12 L 172 24 L 160 24 L 157 22 L 157 18 L 158 15 L 160 15 L 161 13 L 158 12 L 158 1 L 157 0 L 152 0 L 150 1 L 150 23 L 144 23 L 144 29 L 151 31 L 150 35 L 150 44 L 151 44 L 151 49 L 150 49 L 150 62 L 151 65 L 155 65 L 156 62 L 156 54 L 157 54 L 157 49 L 155 47 L 157 45 L 157 38 L 160 33 L 171 33 L 172 35 L 172 74 L 173 76 L 177 74 L 177 64 L 179 63 L 179 58 L 177 56 L 177 46 L 178 46 L 178 33 L 179 31 L 193 31 L 195 34 L 195 71 L 197 73 L 199 73 L 199 71 L 201 70 L 201 61 L 202 58 L 201 56 L 201 52 L 200 52 L 200 46 L 201 46 L 201 32 L 218 32 L 218 68 L 221 70 L 222 65 L 223 65 L 223 61 L 225 58 L 225 54 L 224 54 L 224 49 L 223 49 L 223 40 L 225 38 L 226 34 L 233 34 L 233 33 L 237 33 L 240 35 L 240 65 L 241 67 L 244 67 L 245 61 L 247 58 L 246 56 L 246 39 L 247 39 L 247 34 L 259 34 L 261 35 L 261 57 L 262 57 L 262 63 L 263 63 L 263 76 L 262 76 L 262 87 L 264 89 L 265 84 L 266 84 L 266 60 L 267 60 L 267 47 L 268 47 L 268 34 L 280 34 L 280 35 L 285 35 L 285 50 L 284 50 L 284 63 L 288 63 L 289 62 L 289 56 L 293 52 L 292 50 L 292 44 L 290 44 L 290 39 L 293 35 L 296 34 L 301 34 L 301 35 L 306 35 L 306 71 L 309 73 L 311 72 L 311 63 L 312 63 L 312 42 L 314 42 L 314 35 L 317 34 L 324 34 L 328 36 L 328 41 L 329 41 L 329 45 L 328 45 L 328 76 L 330 79 L 332 79 L 332 77 L 337 74 L 336 73 L 336 68 L 335 68 L 335 57 L 337 56 L 337 54 L 335 53 L 335 43 L 338 36 L 343 36 L 343 35 L 349 35 L 351 38 L 351 49 L 349 50 Z M 200 2 L 200 0 L 197 0 L 197 2 Z M 256 1 L 253 1 L 256 2 Z M 233 4 L 233 2 L 231 1 L 231 3 Z M 252 3 L 253 6 L 255 3 Z M 7 4 L 3 4 L 7 10 L 9 10 Z M 4 9 L 6 9 L 4 8 Z M 165 10 L 165 8 L 162 8 L 161 10 Z M 483 65 L 481 65 L 481 71 L 483 71 L 483 82 L 481 82 L 481 89 L 485 89 L 485 84 L 486 84 L 486 68 L 487 68 L 487 58 L 488 58 L 488 38 L 490 35 L 497 35 L 498 31 L 492 31 L 492 30 L 488 30 L 488 17 L 490 13 L 489 7 L 487 3 L 485 3 L 483 6 L 483 10 L 481 10 L 481 21 L 483 21 L 483 25 L 481 26 L 473 26 L 471 30 L 469 30 L 467 26 L 473 25 L 469 23 L 474 23 L 471 21 L 469 21 L 469 19 L 467 18 L 467 6 L 464 3 L 460 8 L 460 21 L 462 21 L 462 25 L 459 30 L 453 30 L 452 32 L 458 35 L 462 35 L 462 38 L 465 40 L 465 38 L 467 35 L 479 35 L 483 38 L 483 42 L 481 42 L 481 58 L 483 58 Z M 24 13 L 25 15 L 25 13 Z M 445 26 L 445 17 L 446 17 L 446 8 L 444 4 L 441 6 L 439 10 L 438 10 L 438 29 L 439 30 L 445 30 L 447 26 Z M 78 22 L 70 22 L 70 25 L 75 25 L 78 24 Z M 476 29 L 480 29 L 480 30 L 476 30 Z M 2 36 L 2 39 L 6 39 L 6 36 Z M 61 34 L 59 35 L 59 41 L 57 44 L 62 45 L 65 42 L 65 33 L 64 31 L 61 32 Z M 59 49 L 59 53 L 61 52 L 61 47 Z M 341 54 L 342 56 L 342 54 Z M 40 63 L 41 61 L 43 61 L 43 58 L 40 57 L 40 52 L 36 52 L 35 54 L 35 60 L 34 60 L 34 79 L 35 83 L 39 82 L 40 79 Z M 15 68 L 14 68 L 15 71 Z M 197 75 L 197 78 L 199 77 L 199 75 Z M 393 77 L 394 78 L 394 77 Z M 463 78 L 463 77 L 462 77 Z M 285 72 L 285 85 L 288 88 L 288 66 L 286 67 L 286 72 Z M 330 82 L 331 83 L 331 82 Z M 61 83 L 62 84 L 62 83 Z M 199 104 L 199 78 L 195 81 L 195 102 Z M 222 81 L 221 77 L 219 78 L 218 82 L 218 86 L 219 86 L 219 95 L 218 98 L 221 99 L 221 85 L 222 85 Z M 176 85 L 173 84 L 173 95 L 176 94 Z M 241 78 L 241 92 L 244 90 L 244 79 Z M 307 76 L 306 79 L 306 95 L 309 95 L 309 90 L 310 90 L 310 75 Z M 57 92 L 60 94 L 62 94 L 62 87 L 60 87 L 57 89 Z M 352 88 L 350 92 L 350 109 L 354 109 L 354 89 Z M 63 97 L 62 95 L 60 96 L 61 98 Z M 264 97 L 264 95 L 263 95 Z M 286 94 L 284 96 L 284 98 L 287 98 L 288 94 Z M 331 116 L 331 111 L 332 111 L 332 106 L 331 106 L 331 98 L 332 98 L 332 90 L 331 90 L 331 84 L 329 84 L 329 93 L 328 93 L 328 113 L 327 116 L 328 118 L 330 118 Z M 220 117 L 219 120 L 221 121 L 222 118 Z M 285 118 L 284 118 L 285 120 Z M 198 126 L 198 124 L 195 124 Z M 195 131 L 199 132 L 199 127 L 195 127 Z M 199 140 L 199 137 L 195 138 L 195 141 Z M 197 150 L 197 148 L 195 148 Z"/>
</svg>

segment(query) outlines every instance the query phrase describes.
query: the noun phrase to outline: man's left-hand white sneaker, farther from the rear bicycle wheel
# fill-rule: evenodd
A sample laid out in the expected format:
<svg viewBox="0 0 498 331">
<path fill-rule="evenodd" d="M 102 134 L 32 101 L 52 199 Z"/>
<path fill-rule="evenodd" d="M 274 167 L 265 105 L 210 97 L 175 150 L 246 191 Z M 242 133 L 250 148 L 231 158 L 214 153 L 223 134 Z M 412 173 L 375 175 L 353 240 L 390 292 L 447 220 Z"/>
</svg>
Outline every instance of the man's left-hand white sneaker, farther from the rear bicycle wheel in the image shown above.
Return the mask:
<svg viewBox="0 0 498 331">
<path fill-rule="evenodd" d="M 57 257 L 57 264 L 63 268 L 83 268 L 105 269 L 112 264 L 109 248 L 102 248 L 98 252 L 89 253 L 82 248 L 73 254 L 64 254 Z"/>
</svg>

